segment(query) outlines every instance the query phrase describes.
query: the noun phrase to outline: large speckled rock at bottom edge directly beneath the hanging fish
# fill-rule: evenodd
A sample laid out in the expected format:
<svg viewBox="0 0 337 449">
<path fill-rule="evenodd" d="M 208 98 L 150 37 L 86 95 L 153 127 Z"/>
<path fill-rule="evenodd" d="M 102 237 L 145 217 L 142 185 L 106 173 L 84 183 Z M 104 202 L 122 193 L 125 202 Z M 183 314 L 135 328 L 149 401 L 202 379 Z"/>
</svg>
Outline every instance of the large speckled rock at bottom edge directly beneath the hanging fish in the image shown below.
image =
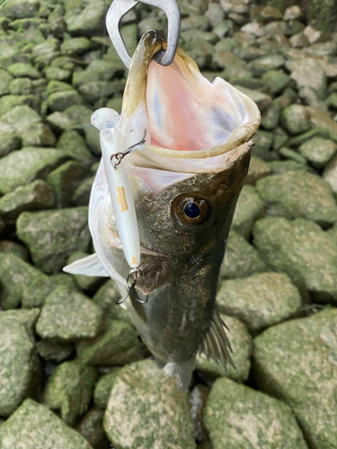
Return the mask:
<svg viewBox="0 0 337 449">
<path fill-rule="evenodd" d="M 123 425 L 126 417 L 127 427 Z M 196 447 L 186 395 L 153 360 L 137 362 L 118 372 L 104 429 L 112 445 L 125 449 L 165 447 L 167 442 L 172 449 Z"/>
</svg>

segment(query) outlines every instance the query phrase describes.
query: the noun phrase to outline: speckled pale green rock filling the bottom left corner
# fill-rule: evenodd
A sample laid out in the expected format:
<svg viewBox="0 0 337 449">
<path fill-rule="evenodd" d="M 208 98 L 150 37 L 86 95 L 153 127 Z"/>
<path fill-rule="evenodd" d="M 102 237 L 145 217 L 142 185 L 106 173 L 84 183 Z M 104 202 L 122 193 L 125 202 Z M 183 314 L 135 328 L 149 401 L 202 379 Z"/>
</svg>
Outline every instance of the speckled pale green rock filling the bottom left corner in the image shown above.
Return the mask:
<svg viewBox="0 0 337 449">
<path fill-rule="evenodd" d="M 2 449 L 46 449 L 46 441 L 52 447 L 62 449 L 93 449 L 83 436 L 59 419 L 55 413 L 38 402 L 26 400 L 0 427 Z"/>
</svg>

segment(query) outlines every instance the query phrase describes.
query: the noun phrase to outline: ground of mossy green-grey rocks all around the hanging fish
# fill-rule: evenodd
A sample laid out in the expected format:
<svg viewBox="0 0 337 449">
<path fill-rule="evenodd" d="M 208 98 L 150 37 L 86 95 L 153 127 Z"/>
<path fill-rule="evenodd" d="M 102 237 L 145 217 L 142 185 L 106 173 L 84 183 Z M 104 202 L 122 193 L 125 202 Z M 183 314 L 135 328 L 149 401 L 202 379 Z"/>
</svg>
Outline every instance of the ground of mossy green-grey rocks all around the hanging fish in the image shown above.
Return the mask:
<svg viewBox="0 0 337 449">
<path fill-rule="evenodd" d="M 182 48 L 262 111 L 217 295 L 236 370 L 198 357 L 183 395 L 113 281 L 61 272 L 92 251 L 90 116 L 120 110 L 127 74 L 102 0 L 7 0 L 0 449 L 337 449 L 337 33 L 298 6 L 180 4 Z M 130 51 L 164 22 L 138 5 L 122 25 Z"/>
</svg>

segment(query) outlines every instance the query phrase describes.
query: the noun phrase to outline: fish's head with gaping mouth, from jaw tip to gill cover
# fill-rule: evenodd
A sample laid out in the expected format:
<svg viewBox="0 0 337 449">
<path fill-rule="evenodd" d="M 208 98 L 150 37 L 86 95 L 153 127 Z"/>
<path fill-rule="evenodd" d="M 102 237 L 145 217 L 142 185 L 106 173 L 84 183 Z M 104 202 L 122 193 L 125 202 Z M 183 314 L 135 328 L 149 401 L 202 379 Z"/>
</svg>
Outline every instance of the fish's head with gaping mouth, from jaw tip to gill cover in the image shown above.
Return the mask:
<svg viewBox="0 0 337 449">
<path fill-rule="evenodd" d="M 157 31 L 140 40 L 117 125 L 124 147 L 136 145 L 122 163 L 141 245 L 137 288 L 145 294 L 208 261 L 219 266 L 260 124 L 251 99 L 220 78 L 209 83 L 181 48 L 171 66 L 157 64 L 165 48 Z M 106 184 L 101 164 L 89 226 L 104 268 L 125 278 L 129 266 Z"/>
</svg>

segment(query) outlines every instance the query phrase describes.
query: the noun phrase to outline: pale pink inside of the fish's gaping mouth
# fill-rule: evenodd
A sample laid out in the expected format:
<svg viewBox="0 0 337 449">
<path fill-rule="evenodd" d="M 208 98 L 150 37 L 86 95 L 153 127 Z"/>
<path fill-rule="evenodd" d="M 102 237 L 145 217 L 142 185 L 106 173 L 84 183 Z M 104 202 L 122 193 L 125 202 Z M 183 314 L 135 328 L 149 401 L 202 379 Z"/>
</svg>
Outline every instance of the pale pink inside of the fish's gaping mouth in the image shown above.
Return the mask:
<svg viewBox="0 0 337 449">
<path fill-rule="evenodd" d="M 195 151 L 225 143 L 243 123 L 244 110 L 220 81 L 210 84 L 197 71 L 187 78 L 175 60 L 167 67 L 152 61 L 146 88 L 151 144 Z"/>
</svg>

